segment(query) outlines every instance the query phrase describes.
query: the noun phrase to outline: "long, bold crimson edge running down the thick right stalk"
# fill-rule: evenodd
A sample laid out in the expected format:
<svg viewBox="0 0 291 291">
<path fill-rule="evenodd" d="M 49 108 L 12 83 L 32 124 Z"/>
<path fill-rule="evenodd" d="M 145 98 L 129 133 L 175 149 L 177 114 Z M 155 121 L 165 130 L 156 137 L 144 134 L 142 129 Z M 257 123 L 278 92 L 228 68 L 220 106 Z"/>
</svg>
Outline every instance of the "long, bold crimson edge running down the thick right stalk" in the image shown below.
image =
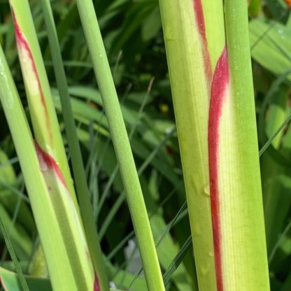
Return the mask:
<svg viewBox="0 0 291 291">
<path fill-rule="evenodd" d="M 213 226 L 213 246 L 217 290 L 223 291 L 222 253 L 220 234 L 220 193 L 218 185 L 219 166 L 219 127 L 222 115 L 222 105 L 225 101 L 225 91 L 229 84 L 229 67 L 227 50 L 223 50 L 215 68 L 211 85 L 211 100 L 208 120 L 208 157 L 211 193 L 211 217 Z"/>
</svg>

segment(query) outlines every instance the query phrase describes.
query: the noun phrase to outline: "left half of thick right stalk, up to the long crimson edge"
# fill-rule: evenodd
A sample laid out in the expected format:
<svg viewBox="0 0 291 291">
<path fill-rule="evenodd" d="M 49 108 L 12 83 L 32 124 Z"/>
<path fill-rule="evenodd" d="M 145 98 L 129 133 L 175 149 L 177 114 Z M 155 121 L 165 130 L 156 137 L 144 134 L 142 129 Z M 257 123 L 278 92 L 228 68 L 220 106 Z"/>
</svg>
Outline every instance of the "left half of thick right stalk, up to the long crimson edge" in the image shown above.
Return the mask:
<svg viewBox="0 0 291 291">
<path fill-rule="evenodd" d="M 222 1 L 159 0 L 199 290 L 215 290 L 208 170 L 211 80 L 225 48 Z"/>
</svg>

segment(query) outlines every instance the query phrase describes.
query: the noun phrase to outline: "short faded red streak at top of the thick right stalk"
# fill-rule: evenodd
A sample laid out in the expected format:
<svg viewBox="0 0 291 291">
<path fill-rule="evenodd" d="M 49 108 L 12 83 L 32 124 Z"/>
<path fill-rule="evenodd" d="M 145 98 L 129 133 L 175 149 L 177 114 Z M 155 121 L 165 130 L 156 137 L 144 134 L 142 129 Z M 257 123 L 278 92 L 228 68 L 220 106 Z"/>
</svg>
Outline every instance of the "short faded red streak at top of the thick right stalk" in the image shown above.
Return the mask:
<svg viewBox="0 0 291 291">
<path fill-rule="evenodd" d="M 204 12 L 201 0 L 192 0 L 194 6 L 194 13 L 196 17 L 196 23 L 201 35 L 202 43 L 203 43 L 203 59 L 204 59 L 204 66 L 206 71 L 206 76 L 211 82 L 212 78 L 212 69 L 211 69 L 211 60 L 210 55 L 207 48 L 207 38 L 206 38 L 206 28 L 204 22 Z"/>
</svg>

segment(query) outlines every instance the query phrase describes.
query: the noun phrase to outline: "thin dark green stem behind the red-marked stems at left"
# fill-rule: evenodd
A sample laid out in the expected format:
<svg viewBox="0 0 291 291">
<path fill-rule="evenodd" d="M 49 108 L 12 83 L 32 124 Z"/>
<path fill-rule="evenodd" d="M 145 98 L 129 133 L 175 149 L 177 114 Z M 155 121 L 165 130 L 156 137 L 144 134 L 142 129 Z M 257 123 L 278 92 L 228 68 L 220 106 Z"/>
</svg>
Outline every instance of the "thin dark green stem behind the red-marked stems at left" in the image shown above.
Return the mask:
<svg viewBox="0 0 291 291">
<path fill-rule="evenodd" d="M 99 243 L 96 225 L 94 223 L 94 215 L 92 211 L 92 205 L 90 203 L 90 192 L 87 186 L 83 159 L 80 152 L 78 136 L 76 134 L 76 125 L 73 119 L 73 111 L 69 99 L 69 90 L 66 83 L 66 74 L 64 72 L 64 66 L 62 63 L 62 55 L 59 48 L 59 41 L 57 39 L 55 22 L 52 16 L 50 1 L 42 0 L 41 3 L 45 16 L 45 24 L 48 29 L 48 38 L 50 41 L 50 49 L 52 53 L 55 75 L 57 78 L 57 86 L 59 88 L 59 96 L 62 102 L 62 113 L 66 125 L 66 135 L 68 138 L 69 150 L 71 153 L 73 176 L 75 180 L 78 201 L 80 204 L 80 214 L 83 219 L 87 243 L 90 254 L 92 256 L 94 269 L 97 272 L 100 288 L 102 291 L 106 291 L 109 288 L 108 279 L 104 269 L 101 246 Z"/>
</svg>

